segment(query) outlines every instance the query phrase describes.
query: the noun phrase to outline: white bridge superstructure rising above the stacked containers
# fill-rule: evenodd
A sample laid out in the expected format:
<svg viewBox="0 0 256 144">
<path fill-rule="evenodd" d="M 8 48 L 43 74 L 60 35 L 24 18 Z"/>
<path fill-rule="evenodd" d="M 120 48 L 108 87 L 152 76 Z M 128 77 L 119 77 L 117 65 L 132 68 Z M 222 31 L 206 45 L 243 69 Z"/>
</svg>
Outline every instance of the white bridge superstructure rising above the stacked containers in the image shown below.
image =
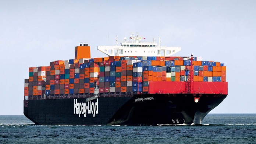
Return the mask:
<svg viewBox="0 0 256 144">
<path fill-rule="evenodd" d="M 181 50 L 181 47 L 164 47 L 159 45 L 153 40 L 153 42 L 142 42 L 145 39 L 143 36 L 139 36 L 138 33 L 132 33 L 132 37 L 129 37 L 129 41 L 126 37 L 120 42 L 121 46 L 118 46 L 118 38 L 116 37 L 115 46 L 98 46 L 97 49 L 109 56 L 171 56 Z"/>
</svg>

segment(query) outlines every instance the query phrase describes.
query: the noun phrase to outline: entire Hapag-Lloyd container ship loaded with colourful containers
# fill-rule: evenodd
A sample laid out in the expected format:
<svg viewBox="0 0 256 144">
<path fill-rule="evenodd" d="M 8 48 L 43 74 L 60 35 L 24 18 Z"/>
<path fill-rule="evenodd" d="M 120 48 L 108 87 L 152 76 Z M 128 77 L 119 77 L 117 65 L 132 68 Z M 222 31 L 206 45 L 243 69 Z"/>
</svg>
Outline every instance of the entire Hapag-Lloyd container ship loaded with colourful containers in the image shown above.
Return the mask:
<svg viewBox="0 0 256 144">
<path fill-rule="evenodd" d="M 29 68 L 24 115 L 36 125 L 201 124 L 227 97 L 226 66 L 144 39 L 116 37 L 100 58 L 80 44 L 74 59 Z"/>
</svg>

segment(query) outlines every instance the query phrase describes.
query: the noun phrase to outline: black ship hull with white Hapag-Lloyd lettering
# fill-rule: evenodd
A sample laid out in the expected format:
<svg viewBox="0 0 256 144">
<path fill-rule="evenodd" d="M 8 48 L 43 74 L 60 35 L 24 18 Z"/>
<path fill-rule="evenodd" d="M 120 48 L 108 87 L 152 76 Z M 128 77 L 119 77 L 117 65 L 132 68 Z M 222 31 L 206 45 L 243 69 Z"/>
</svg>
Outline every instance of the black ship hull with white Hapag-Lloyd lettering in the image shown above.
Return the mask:
<svg viewBox="0 0 256 144">
<path fill-rule="evenodd" d="M 201 124 L 224 94 L 139 94 L 133 97 L 28 100 L 24 115 L 36 125 Z M 88 99 L 87 99 L 88 100 Z"/>
</svg>

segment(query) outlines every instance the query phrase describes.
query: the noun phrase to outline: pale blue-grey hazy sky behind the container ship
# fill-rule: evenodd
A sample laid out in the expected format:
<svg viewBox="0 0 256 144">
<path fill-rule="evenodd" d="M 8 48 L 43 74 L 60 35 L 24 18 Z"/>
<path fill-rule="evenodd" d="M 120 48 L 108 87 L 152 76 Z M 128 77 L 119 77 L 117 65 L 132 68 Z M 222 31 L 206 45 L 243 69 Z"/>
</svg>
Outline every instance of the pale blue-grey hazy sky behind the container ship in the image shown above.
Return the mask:
<svg viewBox="0 0 256 144">
<path fill-rule="evenodd" d="M 0 115 L 23 115 L 28 68 L 74 59 L 75 46 L 114 46 L 139 32 L 227 66 L 228 96 L 210 113 L 256 113 L 255 0 L 1 0 Z"/>
</svg>

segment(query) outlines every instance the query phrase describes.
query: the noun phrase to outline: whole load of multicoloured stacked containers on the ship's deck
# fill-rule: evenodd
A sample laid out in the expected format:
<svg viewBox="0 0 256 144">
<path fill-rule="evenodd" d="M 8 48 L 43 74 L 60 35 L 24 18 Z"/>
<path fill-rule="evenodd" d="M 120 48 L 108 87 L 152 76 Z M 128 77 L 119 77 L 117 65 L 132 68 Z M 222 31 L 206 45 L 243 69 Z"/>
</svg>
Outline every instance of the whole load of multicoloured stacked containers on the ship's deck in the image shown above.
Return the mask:
<svg viewBox="0 0 256 144">
<path fill-rule="evenodd" d="M 187 81 L 189 57 L 120 57 L 50 62 L 29 68 L 24 96 L 68 94 L 147 93 L 150 81 Z M 193 60 L 196 82 L 225 82 L 226 67 L 220 62 Z"/>
</svg>

